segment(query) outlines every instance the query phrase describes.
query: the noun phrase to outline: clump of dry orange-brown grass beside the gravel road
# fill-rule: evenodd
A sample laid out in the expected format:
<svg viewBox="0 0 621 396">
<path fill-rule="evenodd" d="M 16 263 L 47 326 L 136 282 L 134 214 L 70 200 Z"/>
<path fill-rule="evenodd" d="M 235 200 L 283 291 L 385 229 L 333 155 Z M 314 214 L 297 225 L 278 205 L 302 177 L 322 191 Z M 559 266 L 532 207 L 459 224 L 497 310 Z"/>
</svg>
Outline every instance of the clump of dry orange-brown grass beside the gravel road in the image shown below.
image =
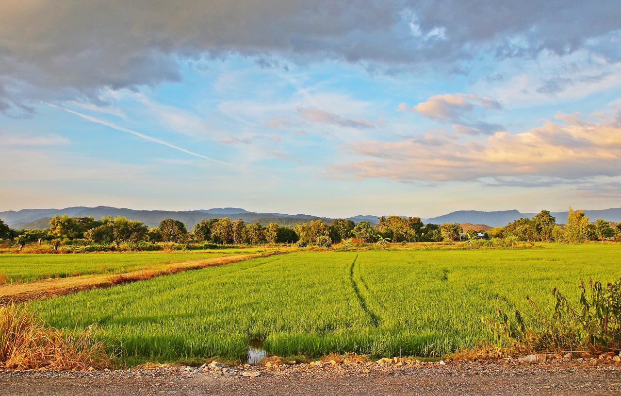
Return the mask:
<svg viewBox="0 0 621 396">
<path fill-rule="evenodd" d="M 95 336 L 94 325 L 58 330 L 24 306 L 0 307 L 0 368 L 84 370 L 112 367 L 108 346 Z"/>
</svg>

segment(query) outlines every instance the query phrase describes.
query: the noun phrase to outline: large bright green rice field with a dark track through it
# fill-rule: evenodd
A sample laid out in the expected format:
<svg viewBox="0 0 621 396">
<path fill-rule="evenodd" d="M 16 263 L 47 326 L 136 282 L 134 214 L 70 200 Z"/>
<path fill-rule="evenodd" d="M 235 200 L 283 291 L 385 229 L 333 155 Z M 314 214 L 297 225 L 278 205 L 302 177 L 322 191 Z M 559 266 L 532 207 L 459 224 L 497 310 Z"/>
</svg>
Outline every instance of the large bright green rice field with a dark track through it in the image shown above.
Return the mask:
<svg viewBox="0 0 621 396">
<path fill-rule="evenodd" d="M 621 246 L 471 251 L 296 252 L 31 303 L 56 327 L 101 324 L 125 358 L 269 354 L 442 356 L 490 341 L 481 316 L 551 309 L 589 277 L 621 277 Z M 84 256 L 84 255 L 80 255 Z"/>
</svg>

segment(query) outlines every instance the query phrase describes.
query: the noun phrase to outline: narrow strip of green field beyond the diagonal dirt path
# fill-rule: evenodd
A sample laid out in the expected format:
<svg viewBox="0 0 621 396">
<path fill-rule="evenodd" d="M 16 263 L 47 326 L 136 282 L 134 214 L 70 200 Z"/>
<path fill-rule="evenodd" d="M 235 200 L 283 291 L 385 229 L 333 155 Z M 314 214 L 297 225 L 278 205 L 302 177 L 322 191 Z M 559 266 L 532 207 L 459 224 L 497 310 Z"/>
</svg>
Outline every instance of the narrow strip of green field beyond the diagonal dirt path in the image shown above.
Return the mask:
<svg viewBox="0 0 621 396">
<path fill-rule="evenodd" d="M 181 252 L 0 254 L 0 284 L 79 275 L 120 274 L 142 269 L 157 270 L 161 264 L 170 262 L 252 254 L 258 251 L 259 249 L 214 249 Z"/>
</svg>

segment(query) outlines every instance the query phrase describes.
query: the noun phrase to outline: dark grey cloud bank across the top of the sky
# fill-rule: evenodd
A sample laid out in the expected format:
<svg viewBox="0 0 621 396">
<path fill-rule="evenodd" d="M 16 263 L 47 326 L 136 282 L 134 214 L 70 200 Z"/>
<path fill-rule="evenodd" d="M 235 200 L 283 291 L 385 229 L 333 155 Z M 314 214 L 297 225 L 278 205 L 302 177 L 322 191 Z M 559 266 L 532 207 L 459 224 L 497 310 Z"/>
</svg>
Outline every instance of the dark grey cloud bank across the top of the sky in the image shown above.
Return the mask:
<svg viewBox="0 0 621 396">
<path fill-rule="evenodd" d="M 33 101 L 181 80 L 180 62 L 230 53 L 307 63 L 340 60 L 389 71 L 447 71 L 476 58 L 586 48 L 619 62 L 621 3 L 535 0 L 260 2 L 111 0 L 0 3 L 0 112 Z M 567 81 L 550 81 L 553 93 Z"/>
</svg>

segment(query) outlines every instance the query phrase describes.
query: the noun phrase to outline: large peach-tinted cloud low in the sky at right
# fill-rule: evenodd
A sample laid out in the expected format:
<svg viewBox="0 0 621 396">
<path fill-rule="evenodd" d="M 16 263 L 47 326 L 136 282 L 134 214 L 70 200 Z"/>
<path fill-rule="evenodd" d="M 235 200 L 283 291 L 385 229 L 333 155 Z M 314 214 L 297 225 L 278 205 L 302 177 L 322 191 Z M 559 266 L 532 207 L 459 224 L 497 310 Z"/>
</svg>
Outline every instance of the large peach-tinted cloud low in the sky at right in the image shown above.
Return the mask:
<svg viewBox="0 0 621 396">
<path fill-rule="evenodd" d="M 354 178 L 396 180 L 477 180 L 490 177 L 548 177 L 576 180 L 621 175 L 621 122 L 589 122 L 559 116 L 519 134 L 497 132 L 484 142 L 460 142 L 428 134 L 396 142 L 345 146 L 360 158 L 333 165 L 332 172 Z"/>
</svg>

